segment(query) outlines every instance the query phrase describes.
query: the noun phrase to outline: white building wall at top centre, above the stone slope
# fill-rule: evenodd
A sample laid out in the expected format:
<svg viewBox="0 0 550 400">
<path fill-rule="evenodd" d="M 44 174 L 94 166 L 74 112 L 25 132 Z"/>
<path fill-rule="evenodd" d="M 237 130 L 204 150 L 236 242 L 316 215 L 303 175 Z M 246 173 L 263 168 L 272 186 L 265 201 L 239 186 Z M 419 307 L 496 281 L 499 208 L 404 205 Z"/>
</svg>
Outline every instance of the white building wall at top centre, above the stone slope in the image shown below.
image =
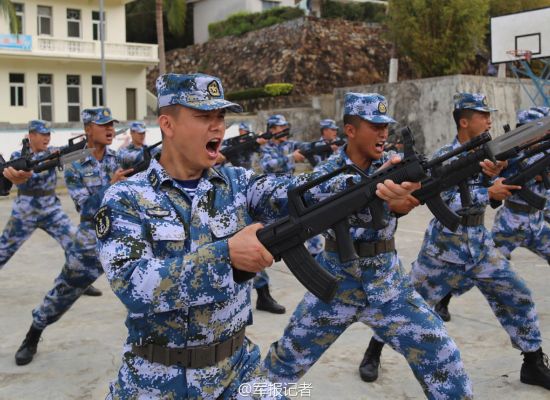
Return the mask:
<svg viewBox="0 0 550 400">
<path fill-rule="evenodd" d="M 294 0 L 281 0 L 281 6 L 293 7 Z M 208 40 L 208 24 L 223 21 L 240 11 L 263 11 L 261 0 L 199 0 L 193 5 L 195 43 Z"/>
</svg>

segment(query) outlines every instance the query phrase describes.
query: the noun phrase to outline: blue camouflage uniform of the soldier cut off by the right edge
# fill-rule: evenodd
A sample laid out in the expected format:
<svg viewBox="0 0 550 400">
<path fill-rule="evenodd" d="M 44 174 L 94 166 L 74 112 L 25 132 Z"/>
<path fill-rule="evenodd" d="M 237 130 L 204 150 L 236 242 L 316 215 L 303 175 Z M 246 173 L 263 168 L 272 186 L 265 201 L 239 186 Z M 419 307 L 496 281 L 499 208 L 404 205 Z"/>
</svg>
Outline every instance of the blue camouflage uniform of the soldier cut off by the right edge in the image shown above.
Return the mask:
<svg viewBox="0 0 550 400">
<path fill-rule="evenodd" d="M 526 124 L 543 117 L 544 114 L 536 110 L 522 110 L 518 113 L 518 124 Z M 543 154 L 538 154 L 528 160 L 518 162 L 520 155 L 509 161 L 502 176 L 504 178 L 514 176 L 520 172 L 520 167 L 528 166 L 543 156 Z M 547 191 L 542 182 L 533 179 L 525 186 L 539 196 L 546 197 Z M 522 206 L 523 210 L 516 205 Z M 514 209 L 512 209 L 513 206 L 515 206 Z M 510 196 L 497 211 L 492 233 L 495 245 L 506 258 L 510 258 L 510 254 L 515 248 L 525 247 L 550 264 L 550 226 L 544 221 L 544 211 L 529 207 L 519 195 Z"/>
</svg>

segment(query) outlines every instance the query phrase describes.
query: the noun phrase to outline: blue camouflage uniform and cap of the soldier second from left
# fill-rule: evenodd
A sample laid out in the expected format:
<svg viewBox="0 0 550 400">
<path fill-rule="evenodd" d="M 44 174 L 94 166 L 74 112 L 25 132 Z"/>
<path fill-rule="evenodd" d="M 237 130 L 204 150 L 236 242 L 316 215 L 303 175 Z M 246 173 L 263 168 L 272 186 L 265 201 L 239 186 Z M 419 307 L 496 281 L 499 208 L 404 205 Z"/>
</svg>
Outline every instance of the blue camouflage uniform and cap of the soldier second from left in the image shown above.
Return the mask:
<svg viewBox="0 0 550 400">
<path fill-rule="evenodd" d="M 108 108 L 85 109 L 82 111 L 82 120 L 84 124 L 100 125 L 118 122 L 113 119 Z M 44 329 L 61 318 L 82 292 L 103 273 L 96 253 L 93 218 L 110 186 L 112 176 L 119 168 L 116 153 L 111 149 L 106 149 L 102 160 L 89 155 L 83 161 L 75 161 L 65 168 L 65 183 L 80 213 L 80 224 L 54 287 L 32 312 L 35 328 Z"/>
</svg>

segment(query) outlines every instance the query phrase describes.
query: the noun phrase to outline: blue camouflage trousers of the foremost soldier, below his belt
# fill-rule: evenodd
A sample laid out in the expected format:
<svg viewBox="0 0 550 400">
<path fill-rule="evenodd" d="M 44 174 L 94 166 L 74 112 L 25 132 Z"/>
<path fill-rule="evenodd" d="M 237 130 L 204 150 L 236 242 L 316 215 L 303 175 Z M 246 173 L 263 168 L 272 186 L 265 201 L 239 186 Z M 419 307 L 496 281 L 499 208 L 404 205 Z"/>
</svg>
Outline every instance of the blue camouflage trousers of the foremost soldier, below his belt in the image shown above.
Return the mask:
<svg viewBox="0 0 550 400">
<path fill-rule="evenodd" d="M 164 366 L 136 357 L 126 345 L 118 379 L 111 383 L 107 399 L 286 399 L 282 385 L 260 372 L 260 349 L 245 339 L 233 356 L 214 367 L 186 369 Z M 222 371 L 220 371 L 220 369 Z M 212 376 L 226 376 L 218 381 Z"/>
</svg>

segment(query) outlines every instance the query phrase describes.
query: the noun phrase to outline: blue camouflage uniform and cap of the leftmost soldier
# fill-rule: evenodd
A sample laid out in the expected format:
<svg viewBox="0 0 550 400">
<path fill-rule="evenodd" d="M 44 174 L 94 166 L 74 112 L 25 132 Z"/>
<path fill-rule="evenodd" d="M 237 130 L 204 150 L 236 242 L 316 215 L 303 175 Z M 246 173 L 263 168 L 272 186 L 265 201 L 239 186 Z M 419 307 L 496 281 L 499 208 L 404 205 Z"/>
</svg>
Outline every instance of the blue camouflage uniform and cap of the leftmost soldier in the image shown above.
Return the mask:
<svg viewBox="0 0 550 400">
<path fill-rule="evenodd" d="M 47 123 L 42 120 L 30 121 L 29 132 L 50 135 Z M 41 158 L 54 150 L 55 147 L 49 147 L 44 152 L 32 154 L 31 157 Z M 20 151 L 15 151 L 11 155 L 12 160 L 20 157 Z M 33 173 L 28 181 L 17 185 L 17 196 L 13 201 L 11 216 L 0 236 L 0 269 L 37 228 L 54 238 L 67 254 L 75 228 L 61 208 L 61 202 L 55 194 L 56 185 L 55 168 Z"/>
</svg>

